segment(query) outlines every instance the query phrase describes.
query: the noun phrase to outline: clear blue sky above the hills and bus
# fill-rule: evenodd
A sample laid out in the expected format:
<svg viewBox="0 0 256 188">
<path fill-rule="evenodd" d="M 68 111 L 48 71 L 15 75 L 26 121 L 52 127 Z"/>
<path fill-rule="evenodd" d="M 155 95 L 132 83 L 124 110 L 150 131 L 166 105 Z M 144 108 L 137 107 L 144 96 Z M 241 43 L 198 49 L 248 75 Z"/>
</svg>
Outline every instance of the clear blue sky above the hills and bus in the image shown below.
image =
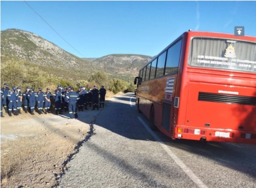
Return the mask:
<svg viewBox="0 0 256 188">
<path fill-rule="evenodd" d="M 4 1 L 0 29 L 33 32 L 81 58 L 155 56 L 183 32 L 256 36 L 256 1 Z M 47 23 L 46 23 L 47 22 Z"/>
</svg>

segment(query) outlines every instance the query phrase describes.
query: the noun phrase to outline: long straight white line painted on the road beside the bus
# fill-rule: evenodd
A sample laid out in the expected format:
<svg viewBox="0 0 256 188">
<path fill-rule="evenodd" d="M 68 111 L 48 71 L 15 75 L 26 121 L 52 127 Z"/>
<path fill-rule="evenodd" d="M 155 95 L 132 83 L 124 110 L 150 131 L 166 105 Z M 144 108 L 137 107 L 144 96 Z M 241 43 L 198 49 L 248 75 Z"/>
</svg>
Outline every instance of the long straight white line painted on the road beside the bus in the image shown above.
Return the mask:
<svg viewBox="0 0 256 188">
<path fill-rule="evenodd" d="M 165 144 L 163 141 L 149 128 L 149 126 L 140 118 L 138 117 L 142 125 L 149 131 L 149 133 L 155 138 L 157 142 L 162 146 L 165 152 L 180 166 L 180 168 L 190 177 L 190 179 L 199 187 L 199 188 L 207 188 L 207 186 L 178 158 Z"/>
</svg>

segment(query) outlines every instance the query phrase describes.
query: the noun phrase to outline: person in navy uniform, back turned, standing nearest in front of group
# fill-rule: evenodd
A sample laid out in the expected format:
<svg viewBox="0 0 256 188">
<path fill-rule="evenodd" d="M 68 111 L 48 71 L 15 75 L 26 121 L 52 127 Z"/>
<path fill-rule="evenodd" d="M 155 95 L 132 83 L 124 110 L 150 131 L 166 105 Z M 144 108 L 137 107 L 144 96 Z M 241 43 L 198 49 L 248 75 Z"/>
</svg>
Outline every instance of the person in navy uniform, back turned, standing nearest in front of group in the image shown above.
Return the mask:
<svg viewBox="0 0 256 188">
<path fill-rule="evenodd" d="M 70 92 L 66 96 L 68 99 L 68 111 L 69 114 L 71 115 L 71 118 L 78 118 L 77 112 L 76 112 L 76 103 L 77 100 L 79 100 L 79 95 L 74 92 L 74 87 L 70 87 Z M 73 116 L 74 115 L 74 116 Z"/>
</svg>

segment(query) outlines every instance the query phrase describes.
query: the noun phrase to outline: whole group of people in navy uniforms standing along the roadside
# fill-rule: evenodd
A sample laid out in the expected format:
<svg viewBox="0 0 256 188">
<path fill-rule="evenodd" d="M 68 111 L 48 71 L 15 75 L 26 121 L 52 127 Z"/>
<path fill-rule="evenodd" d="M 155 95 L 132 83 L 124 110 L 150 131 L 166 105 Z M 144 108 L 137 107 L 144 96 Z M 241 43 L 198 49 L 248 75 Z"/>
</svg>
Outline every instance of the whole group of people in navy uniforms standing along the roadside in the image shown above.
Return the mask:
<svg viewBox="0 0 256 188">
<path fill-rule="evenodd" d="M 83 111 L 83 107 L 87 109 L 87 105 L 93 109 L 104 107 L 106 89 L 101 85 L 101 89 L 98 90 L 97 86 L 94 85 L 93 89 L 90 87 L 87 91 L 85 86 L 79 87 L 79 90 L 74 92 L 74 87 L 58 85 L 56 90 L 51 93 L 50 88 L 46 89 L 46 92 L 42 92 L 42 88 L 39 87 L 38 91 L 35 92 L 34 87 L 26 87 L 26 90 L 21 93 L 20 87 L 12 87 L 9 89 L 8 84 L 4 83 L 4 87 L 1 88 L 1 117 L 3 115 L 3 108 L 9 116 L 19 115 L 21 113 L 22 105 L 24 104 L 24 111 L 28 113 L 30 109 L 31 115 L 34 115 L 34 110 L 37 104 L 37 111 L 39 114 L 50 113 L 52 101 L 54 102 L 56 115 L 62 114 L 62 111 L 69 111 L 71 118 L 78 118 L 76 106 L 79 111 Z M 100 96 L 100 99 L 99 99 Z M 100 102 L 99 102 L 100 101 Z M 8 108 L 7 108 L 8 107 Z"/>
</svg>

